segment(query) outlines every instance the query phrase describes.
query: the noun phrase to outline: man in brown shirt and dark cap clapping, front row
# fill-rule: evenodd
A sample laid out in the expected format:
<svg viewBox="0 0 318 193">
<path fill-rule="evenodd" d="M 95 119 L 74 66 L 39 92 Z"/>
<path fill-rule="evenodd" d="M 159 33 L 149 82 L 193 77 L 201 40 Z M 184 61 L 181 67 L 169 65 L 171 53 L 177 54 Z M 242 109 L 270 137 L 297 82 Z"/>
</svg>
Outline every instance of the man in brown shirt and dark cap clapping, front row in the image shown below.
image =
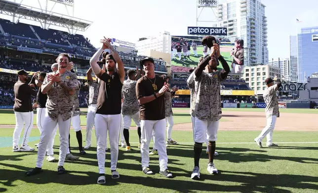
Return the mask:
<svg viewBox="0 0 318 193">
<path fill-rule="evenodd" d="M 136 95 L 140 104 L 142 171 L 145 174 L 154 174 L 149 168 L 149 144 L 154 135 L 159 152 L 159 173 L 167 178 L 172 178 L 173 175 L 167 168 L 163 98 L 163 94 L 168 91 L 169 85 L 162 77 L 155 75 L 155 62 L 152 58 L 145 58 L 140 61 L 140 64 L 143 65 L 145 71 L 145 75 L 137 81 L 136 85 Z"/>
</svg>

